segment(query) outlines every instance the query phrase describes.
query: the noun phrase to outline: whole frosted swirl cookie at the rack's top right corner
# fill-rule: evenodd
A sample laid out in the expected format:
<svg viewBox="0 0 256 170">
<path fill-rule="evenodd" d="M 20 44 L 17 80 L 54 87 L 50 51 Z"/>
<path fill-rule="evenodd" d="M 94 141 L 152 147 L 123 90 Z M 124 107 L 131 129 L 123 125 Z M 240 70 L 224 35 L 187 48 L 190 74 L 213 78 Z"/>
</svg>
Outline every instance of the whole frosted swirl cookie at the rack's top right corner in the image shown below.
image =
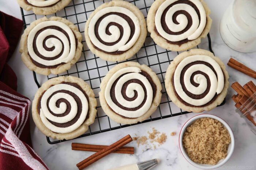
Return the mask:
<svg viewBox="0 0 256 170">
<path fill-rule="evenodd" d="M 203 0 L 156 0 L 147 15 L 147 29 L 158 46 L 184 51 L 197 46 L 210 31 L 210 9 Z"/>
</svg>

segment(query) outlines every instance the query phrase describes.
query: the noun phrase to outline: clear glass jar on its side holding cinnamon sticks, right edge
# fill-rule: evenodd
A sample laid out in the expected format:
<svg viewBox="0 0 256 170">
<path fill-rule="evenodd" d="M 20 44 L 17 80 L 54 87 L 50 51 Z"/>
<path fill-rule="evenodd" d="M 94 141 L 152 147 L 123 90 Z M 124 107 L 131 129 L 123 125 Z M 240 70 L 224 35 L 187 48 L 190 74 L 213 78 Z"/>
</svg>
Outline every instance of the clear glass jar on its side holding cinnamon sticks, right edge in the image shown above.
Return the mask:
<svg viewBox="0 0 256 170">
<path fill-rule="evenodd" d="M 256 92 L 236 109 L 236 112 L 245 119 L 249 128 L 256 135 Z"/>
</svg>

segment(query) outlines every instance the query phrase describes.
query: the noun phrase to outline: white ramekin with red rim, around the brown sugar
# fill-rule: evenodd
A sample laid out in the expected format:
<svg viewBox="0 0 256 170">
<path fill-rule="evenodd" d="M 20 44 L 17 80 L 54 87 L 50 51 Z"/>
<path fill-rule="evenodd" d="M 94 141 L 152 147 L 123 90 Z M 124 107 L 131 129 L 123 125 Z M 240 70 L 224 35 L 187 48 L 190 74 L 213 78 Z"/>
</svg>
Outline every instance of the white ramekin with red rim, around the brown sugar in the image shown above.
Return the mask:
<svg viewBox="0 0 256 170">
<path fill-rule="evenodd" d="M 227 129 L 227 131 L 229 132 L 230 138 L 231 138 L 231 142 L 229 144 L 229 148 L 227 150 L 227 156 L 225 159 L 220 160 L 216 165 L 208 165 L 208 164 L 200 164 L 200 163 L 195 163 L 193 162 L 189 157 L 188 154 L 186 153 L 183 145 L 182 145 L 182 138 L 183 138 L 183 134 L 185 132 L 185 130 L 187 129 L 187 127 L 192 124 L 196 119 L 199 118 L 213 118 L 213 119 L 217 119 L 219 120 L 219 122 L 221 122 L 223 124 L 223 126 Z M 235 146 L 235 139 L 234 139 L 234 134 L 231 130 L 231 128 L 229 127 L 229 125 L 221 118 L 219 118 L 218 116 L 215 115 L 210 115 L 210 114 L 200 114 L 200 115 L 196 115 L 194 117 L 192 117 L 191 119 L 189 119 L 181 128 L 180 131 L 180 136 L 179 136 L 179 145 L 180 145 L 180 150 L 182 155 L 184 156 L 184 158 L 191 163 L 193 166 L 200 168 L 200 169 L 215 169 L 218 168 L 222 165 L 224 165 L 229 158 L 231 157 L 233 151 L 234 151 L 234 146 Z"/>
</svg>

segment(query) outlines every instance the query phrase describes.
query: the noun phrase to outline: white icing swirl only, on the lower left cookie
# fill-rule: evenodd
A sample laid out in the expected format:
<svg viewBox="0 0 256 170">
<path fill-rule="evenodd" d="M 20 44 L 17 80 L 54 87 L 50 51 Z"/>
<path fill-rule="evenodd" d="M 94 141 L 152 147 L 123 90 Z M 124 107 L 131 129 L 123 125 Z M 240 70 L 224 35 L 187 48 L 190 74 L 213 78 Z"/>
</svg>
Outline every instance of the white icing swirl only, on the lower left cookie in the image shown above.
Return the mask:
<svg viewBox="0 0 256 170">
<path fill-rule="evenodd" d="M 49 99 L 49 97 L 54 92 L 59 90 L 67 90 L 67 91 L 73 92 L 82 101 L 82 112 L 80 117 L 74 124 L 68 127 L 57 127 L 49 122 L 49 120 L 56 123 L 69 122 L 76 116 L 78 111 L 78 103 L 76 103 L 74 97 L 63 92 L 57 92 L 56 94 L 54 94 L 49 100 L 49 106 L 47 106 L 47 100 Z M 56 102 L 59 99 L 66 99 L 71 105 L 70 112 L 67 115 L 61 116 L 61 117 L 54 116 L 50 113 L 50 111 L 52 111 L 54 114 L 63 114 L 66 111 L 67 109 L 66 103 L 62 102 L 60 103 L 59 107 L 56 106 Z M 48 107 L 49 107 L 49 110 L 48 110 Z M 69 84 L 56 84 L 50 87 L 48 90 L 46 90 L 45 93 L 42 95 L 40 117 L 44 125 L 49 130 L 56 133 L 69 133 L 76 130 L 84 122 L 84 120 L 86 119 L 88 108 L 89 108 L 88 101 L 82 91 L 80 91 L 78 88 L 71 86 Z"/>
</svg>

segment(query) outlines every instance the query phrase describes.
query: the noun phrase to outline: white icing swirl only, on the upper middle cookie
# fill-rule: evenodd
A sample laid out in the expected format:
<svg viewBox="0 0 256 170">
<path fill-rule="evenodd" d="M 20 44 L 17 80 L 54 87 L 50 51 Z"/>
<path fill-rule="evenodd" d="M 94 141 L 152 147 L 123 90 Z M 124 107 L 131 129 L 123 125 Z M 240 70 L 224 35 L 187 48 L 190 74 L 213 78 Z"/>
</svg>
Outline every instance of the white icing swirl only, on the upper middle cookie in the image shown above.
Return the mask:
<svg viewBox="0 0 256 170">
<path fill-rule="evenodd" d="M 102 19 L 101 23 L 99 24 L 98 28 L 98 33 L 99 37 L 107 42 L 107 43 L 113 43 L 117 41 L 120 38 L 121 32 L 119 28 L 115 25 L 112 25 L 109 27 L 109 32 L 111 35 L 106 34 L 106 28 L 109 23 L 114 22 L 117 24 L 120 24 L 123 27 L 124 33 L 123 37 L 121 40 L 114 44 L 113 46 L 107 46 L 103 43 L 101 43 L 96 35 L 95 35 L 95 24 L 99 20 L 100 17 L 102 17 L 105 14 L 108 14 L 110 12 L 118 12 L 118 13 L 123 13 L 127 15 L 128 17 L 131 18 L 135 25 L 135 32 L 134 35 L 132 36 L 131 40 L 128 41 L 130 35 L 131 35 L 131 28 L 128 24 L 128 22 L 123 18 L 118 15 L 108 15 L 104 19 Z M 99 49 L 106 51 L 106 52 L 115 52 L 115 51 L 126 51 L 129 50 L 137 41 L 139 35 L 140 35 L 140 24 L 139 20 L 134 15 L 133 12 L 131 12 L 129 9 L 123 8 L 123 7 L 107 7 L 103 8 L 100 11 L 98 11 L 91 19 L 89 23 L 89 28 L 88 28 L 88 34 L 90 37 L 91 42 L 94 44 L 94 46 L 98 47 Z M 128 41 L 128 42 L 127 42 Z"/>
</svg>

